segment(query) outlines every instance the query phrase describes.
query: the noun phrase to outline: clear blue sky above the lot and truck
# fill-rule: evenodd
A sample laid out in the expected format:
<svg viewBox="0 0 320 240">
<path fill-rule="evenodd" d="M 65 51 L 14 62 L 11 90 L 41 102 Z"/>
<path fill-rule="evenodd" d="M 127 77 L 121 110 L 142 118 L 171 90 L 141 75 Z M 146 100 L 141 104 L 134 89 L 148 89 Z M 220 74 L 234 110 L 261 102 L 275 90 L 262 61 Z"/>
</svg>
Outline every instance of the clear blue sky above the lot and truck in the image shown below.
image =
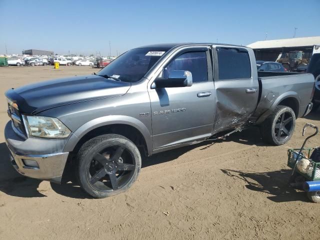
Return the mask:
<svg viewBox="0 0 320 240">
<path fill-rule="evenodd" d="M 165 42 L 320 35 L 320 0 L 0 0 L 0 53 L 120 54 Z"/>
</svg>

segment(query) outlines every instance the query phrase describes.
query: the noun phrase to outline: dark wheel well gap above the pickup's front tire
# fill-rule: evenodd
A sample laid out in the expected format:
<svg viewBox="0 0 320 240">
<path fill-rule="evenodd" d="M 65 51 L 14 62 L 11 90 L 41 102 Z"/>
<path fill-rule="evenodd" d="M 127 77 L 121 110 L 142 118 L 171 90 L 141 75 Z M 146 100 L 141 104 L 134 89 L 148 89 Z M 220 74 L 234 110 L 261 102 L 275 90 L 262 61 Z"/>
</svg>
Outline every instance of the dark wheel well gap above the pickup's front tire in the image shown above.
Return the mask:
<svg viewBox="0 0 320 240">
<path fill-rule="evenodd" d="M 114 134 L 125 136 L 138 147 L 141 153 L 144 153 L 145 155 L 147 155 L 148 151 L 147 151 L 146 142 L 143 135 L 138 129 L 127 124 L 111 124 L 111 125 L 105 125 L 105 126 L 94 128 L 93 130 L 87 132 L 84 136 L 81 137 L 81 139 L 75 145 L 72 152 L 76 154 L 84 142 L 86 142 L 87 140 L 95 136 L 99 136 L 107 133 L 114 133 Z"/>
</svg>

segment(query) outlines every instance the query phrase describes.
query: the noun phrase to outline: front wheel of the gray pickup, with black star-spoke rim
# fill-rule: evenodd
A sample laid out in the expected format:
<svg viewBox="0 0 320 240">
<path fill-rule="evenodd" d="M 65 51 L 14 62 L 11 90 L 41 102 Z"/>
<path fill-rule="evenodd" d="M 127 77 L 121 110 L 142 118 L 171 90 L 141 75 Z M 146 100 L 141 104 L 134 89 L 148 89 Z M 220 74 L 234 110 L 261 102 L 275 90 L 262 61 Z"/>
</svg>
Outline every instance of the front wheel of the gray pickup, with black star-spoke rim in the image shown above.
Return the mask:
<svg viewBox="0 0 320 240">
<path fill-rule="evenodd" d="M 136 180 L 141 156 L 132 141 L 105 134 L 85 142 L 77 153 L 77 177 L 82 189 L 103 198 L 126 191 Z"/>
</svg>

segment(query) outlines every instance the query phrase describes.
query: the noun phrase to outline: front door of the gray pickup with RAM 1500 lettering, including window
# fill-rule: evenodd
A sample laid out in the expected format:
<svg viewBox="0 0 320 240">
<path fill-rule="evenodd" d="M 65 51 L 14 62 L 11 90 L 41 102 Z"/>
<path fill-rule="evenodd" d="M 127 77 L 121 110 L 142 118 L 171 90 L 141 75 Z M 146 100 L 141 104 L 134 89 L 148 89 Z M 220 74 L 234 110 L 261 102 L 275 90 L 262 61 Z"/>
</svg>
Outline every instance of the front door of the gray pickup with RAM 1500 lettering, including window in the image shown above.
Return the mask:
<svg viewBox="0 0 320 240">
<path fill-rule="evenodd" d="M 177 53 L 164 72 L 188 70 L 193 84 L 148 89 L 151 102 L 153 149 L 207 137 L 214 115 L 214 84 L 208 50 Z"/>
</svg>

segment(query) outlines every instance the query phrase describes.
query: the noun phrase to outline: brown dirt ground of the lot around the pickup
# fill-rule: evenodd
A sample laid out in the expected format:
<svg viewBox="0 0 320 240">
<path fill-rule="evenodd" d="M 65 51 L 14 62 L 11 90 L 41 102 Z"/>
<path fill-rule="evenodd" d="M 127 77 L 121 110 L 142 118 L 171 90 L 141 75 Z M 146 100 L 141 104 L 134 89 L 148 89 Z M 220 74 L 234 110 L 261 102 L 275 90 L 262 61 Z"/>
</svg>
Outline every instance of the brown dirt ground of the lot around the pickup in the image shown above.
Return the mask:
<svg viewBox="0 0 320 240">
<path fill-rule="evenodd" d="M 0 67 L 0 239 L 320 238 L 320 204 L 287 186 L 286 166 L 287 149 L 302 144 L 305 122 L 320 126 L 320 111 L 298 119 L 282 146 L 264 144 L 251 128 L 144 157 L 133 186 L 105 199 L 90 198 L 76 182 L 57 185 L 16 173 L 3 137 L 9 120 L 4 91 L 93 71 Z M 320 145 L 320 135 L 307 145 Z"/>
</svg>

